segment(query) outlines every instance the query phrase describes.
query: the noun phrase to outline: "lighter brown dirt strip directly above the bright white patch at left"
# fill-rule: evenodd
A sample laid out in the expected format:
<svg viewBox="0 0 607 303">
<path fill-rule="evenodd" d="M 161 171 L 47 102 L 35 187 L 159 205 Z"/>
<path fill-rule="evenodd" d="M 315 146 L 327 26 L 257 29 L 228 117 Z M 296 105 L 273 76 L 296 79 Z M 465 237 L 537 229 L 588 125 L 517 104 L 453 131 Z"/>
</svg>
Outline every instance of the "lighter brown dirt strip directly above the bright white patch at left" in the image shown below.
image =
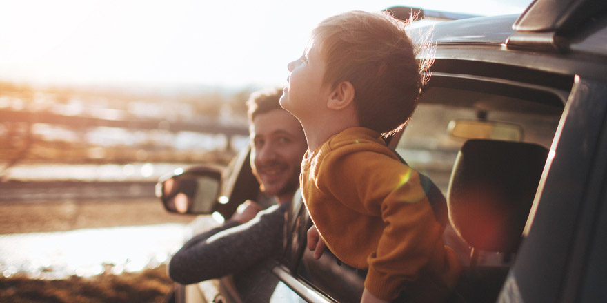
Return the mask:
<svg viewBox="0 0 607 303">
<path fill-rule="evenodd" d="M 168 213 L 157 198 L 1 202 L 0 213 L 0 234 L 188 223 L 195 218 Z"/>
</svg>

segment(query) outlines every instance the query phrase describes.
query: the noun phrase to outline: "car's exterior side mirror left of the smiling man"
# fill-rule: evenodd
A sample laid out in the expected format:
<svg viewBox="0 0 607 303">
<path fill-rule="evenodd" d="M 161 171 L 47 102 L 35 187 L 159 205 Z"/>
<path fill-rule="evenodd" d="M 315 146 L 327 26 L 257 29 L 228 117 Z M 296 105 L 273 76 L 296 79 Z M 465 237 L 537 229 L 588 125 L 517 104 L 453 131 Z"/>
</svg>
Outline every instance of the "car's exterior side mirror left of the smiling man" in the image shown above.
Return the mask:
<svg viewBox="0 0 607 303">
<path fill-rule="evenodd" d="M 212 213 L 220 189 L 221 169 L 198 165 L 161 177 L 156 196 L 172 213 Z"/>
</svg>

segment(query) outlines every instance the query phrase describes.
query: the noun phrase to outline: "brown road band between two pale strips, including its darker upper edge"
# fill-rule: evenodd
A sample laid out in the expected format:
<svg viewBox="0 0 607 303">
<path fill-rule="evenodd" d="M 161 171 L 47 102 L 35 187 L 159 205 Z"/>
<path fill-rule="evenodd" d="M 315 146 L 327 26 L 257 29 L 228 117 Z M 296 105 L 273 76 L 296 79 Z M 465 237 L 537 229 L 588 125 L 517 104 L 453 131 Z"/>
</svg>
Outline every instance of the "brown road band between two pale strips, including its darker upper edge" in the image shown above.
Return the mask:
<svg viewBox="0 0 607 303">
<path fill-rule="evenodd" d="M 0 187 L 0 234 L 162 223 L 195 216 L 166 212 L 153 184 L 21 183 Z"/>
</svg>

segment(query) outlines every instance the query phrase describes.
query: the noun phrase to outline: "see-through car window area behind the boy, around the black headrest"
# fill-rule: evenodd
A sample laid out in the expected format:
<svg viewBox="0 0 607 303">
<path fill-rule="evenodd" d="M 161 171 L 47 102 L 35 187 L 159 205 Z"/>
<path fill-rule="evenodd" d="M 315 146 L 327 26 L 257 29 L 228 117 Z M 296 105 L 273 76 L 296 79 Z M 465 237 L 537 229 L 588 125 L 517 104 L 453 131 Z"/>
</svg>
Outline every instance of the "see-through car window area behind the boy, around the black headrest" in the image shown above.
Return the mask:
<svg viewBox="0 0 607 303">
<path fill-rule="evenodd" d="M 564 109 L 556 95 L 551 100 L 546 100 L 550 96 L 541 100 L 524 100 L 453 88 L 433 87 L 430 90 L 434 92 L 422 98 L 395 149 L 410 167 L 430 177 L 445 196 L 457 153 L 467 140 L 450 134 L 448 129 L 452 121 L 517 125 L 521 129 L 521 141 L 550 148 Z M 513 90 L 517 87 L 510 91 Z M 459 102 L 454 102 L 454 99 Z M 446 227 L 444 240 L 455 249 L 462 264 L 470 262 L 470 247 L 450 224 Z M 481 252 L 479 255 L 479 264 L 507 265 L 513 262 L 510 256 L 500 253 Z"/>
</svg>

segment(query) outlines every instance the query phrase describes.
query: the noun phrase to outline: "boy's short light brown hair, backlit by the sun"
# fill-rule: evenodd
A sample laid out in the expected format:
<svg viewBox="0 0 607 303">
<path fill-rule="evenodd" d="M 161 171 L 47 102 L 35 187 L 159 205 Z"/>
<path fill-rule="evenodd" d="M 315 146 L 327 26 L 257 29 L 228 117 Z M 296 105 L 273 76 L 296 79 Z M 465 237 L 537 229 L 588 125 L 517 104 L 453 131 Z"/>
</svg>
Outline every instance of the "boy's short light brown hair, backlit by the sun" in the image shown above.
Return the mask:
<svg viewBox="0 0 607 303">
<path fill-rule="evenodd" d="M 352 83 L 359 123 L 384 135 L 406 125 L 431 65 L 415 58 L 406 24 L 388 12 L 345 12 L 321 21 L 308 45 L 324 56 L 324 85 Z"/>
</svg>

